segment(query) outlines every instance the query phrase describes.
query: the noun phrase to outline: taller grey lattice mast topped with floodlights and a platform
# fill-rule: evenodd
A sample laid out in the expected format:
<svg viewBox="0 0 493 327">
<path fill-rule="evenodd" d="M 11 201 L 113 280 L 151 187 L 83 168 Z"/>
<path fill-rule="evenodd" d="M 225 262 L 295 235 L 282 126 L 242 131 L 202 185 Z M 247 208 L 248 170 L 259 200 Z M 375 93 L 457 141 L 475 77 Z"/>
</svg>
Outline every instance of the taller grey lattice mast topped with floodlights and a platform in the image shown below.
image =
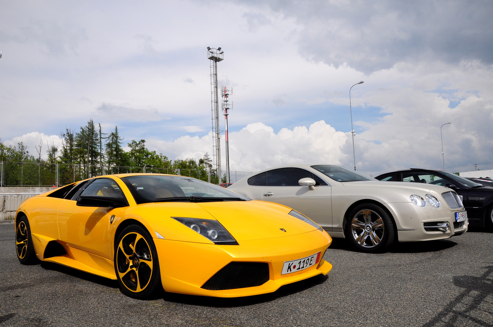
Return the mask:
<svg viewBox="0 0 493 327">
<path fill-rule="evenodd" d="M 219 142 L 219 92 L 217 90 L 217 62 L 224 59 L 221 48 L 207 47 L 207 58 L 211 60 L 211 111 L 212 111 L 212 163 L 221 182 L 221 145 Z"/>
</svg>

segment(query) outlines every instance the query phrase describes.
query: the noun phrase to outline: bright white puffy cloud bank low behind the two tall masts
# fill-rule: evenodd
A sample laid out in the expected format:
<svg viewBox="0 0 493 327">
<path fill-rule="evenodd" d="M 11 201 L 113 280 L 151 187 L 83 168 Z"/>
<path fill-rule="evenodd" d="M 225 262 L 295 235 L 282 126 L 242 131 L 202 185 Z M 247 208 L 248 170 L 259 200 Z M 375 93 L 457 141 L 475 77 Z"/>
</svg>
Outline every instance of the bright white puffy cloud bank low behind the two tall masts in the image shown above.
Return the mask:
<svg viewBox="0 0 493 327">
<path fill-rule="evenodd" d="M 278 133 L 263 123 L 248 124 L 241 131 L 229 133 L 229 156 L 231 170 L 257 171 L 287 163 L 334 163 L 339 164 L 344 154 L 347 134 L 336 131 L 324 121 L 283 128 Z M 221 138 L 222 169 L 225 169 L 224 137 Z M 182 136 L 173 142 L 147 140 L 147 146 L 173 159 L 200 159 L 212 151 L 212 132 L 203 137 Z"/>
</svg>

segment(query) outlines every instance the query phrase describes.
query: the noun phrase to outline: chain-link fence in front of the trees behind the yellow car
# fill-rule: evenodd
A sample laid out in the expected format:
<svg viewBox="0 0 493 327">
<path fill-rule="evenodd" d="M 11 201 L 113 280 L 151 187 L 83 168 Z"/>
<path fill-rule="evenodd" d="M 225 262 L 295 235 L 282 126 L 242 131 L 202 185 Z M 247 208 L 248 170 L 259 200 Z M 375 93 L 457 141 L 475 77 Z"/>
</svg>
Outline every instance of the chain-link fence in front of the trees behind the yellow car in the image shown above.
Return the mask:
<svg viewBox="0 0 493 327">
<path fill-rule="evenodd" d="M 0 187 L 18 186 L 63 186 L 82 179 L 123 173 L 172 174 L 198 178 L 213 184 L 226 182 L 226 171 L 217 176 L 216 171 L 205 169 L 125 167 L 69 163 L 20 163 L 2 161 L 0 165 Z M 229 182 L 234 183 L 248 175 L 249 171 L 230 171 Z"/>
</svg>

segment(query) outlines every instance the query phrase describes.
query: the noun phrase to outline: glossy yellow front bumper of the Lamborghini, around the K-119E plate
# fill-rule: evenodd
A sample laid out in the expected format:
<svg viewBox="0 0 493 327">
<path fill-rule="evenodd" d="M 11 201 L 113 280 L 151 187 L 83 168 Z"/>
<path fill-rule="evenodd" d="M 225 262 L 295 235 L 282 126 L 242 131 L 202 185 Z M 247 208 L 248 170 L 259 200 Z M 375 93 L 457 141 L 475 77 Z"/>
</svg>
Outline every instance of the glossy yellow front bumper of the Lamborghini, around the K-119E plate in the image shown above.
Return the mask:
<svg viewBox="0 0 493 327">
<path fill-rule="evenodd" d="M 332 242 L 326 232 L 311 232 L 261 240 L 239 241 L 240 245 L 215 245 L 154 239 L 161 280 L 167 292 L 236 297 L 275 292 L 282 285 L 319 274 L 326 275 L 332 265 L 321 259 Z M 285 261 L 296 260 L 321 252 L 320 262 L 302 271 L 281 275 Z M 202 285 L 230 262 L 267 262 L 269 280 L 255 287 L 211 291 Z"/>
</svg>

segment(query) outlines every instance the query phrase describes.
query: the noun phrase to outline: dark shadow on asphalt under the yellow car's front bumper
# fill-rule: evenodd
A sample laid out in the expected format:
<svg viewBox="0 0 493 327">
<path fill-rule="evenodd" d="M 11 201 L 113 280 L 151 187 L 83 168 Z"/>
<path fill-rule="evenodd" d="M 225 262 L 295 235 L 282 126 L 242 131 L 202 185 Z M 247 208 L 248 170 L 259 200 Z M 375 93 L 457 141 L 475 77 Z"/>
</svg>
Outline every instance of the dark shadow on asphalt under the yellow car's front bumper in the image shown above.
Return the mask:
<svg viewBox="0 0 493 327">
<path fill-rule="evenodd" d="M 299 293 L 312 287 L 320 285 L 327 280 L 327 276 L 318 275 L 296 283 L 281 286 L 279 290 L 269 294 L 252 295 L 245 297 L 209 297 L 186 295 L 176 293 L 165 293 L 163 300 L 167 302 L 182 303 L 216 308 L 242 307 L 252 304 L 265 303 L 276 300 L 280 297 Z"/>
</svg>

